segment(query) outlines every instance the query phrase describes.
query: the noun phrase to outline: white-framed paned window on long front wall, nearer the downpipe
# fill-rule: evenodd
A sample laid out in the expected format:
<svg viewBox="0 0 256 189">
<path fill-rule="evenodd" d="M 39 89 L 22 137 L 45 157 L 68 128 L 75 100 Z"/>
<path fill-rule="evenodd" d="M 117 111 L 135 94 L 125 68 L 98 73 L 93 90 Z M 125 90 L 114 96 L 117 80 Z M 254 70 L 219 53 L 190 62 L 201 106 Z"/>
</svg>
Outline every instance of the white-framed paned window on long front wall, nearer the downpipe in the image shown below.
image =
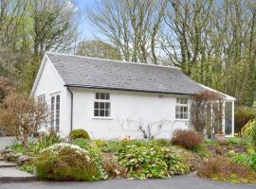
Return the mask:
<svg viewBox="0 0 256 189">
<path fill-rule="evenodd" d="M 96 93 L 94 101 L 95 117 L 110 117 L 110 94 Z"/>
</svg>

